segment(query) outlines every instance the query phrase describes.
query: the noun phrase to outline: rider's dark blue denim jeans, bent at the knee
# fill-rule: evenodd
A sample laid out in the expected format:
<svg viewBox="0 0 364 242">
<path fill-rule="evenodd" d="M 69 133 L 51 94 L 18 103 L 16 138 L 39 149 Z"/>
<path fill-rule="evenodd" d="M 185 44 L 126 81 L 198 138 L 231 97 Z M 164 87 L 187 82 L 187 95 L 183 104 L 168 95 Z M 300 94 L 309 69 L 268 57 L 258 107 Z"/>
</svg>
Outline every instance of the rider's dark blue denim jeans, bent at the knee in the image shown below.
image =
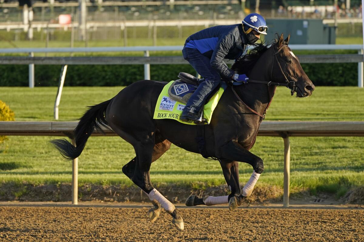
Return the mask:
<svg viewBox="0 0 364 242">
<path fill-rule="evenodd" d="M 197 49 L 184 47 L 182 54 L 183 58 L 190 63 L 197 73 L 205 78 L 204 81 L 199 83 L 198 88 L 183 109 L 183 111 L 198 114 L 209 94 L 219 85 L 221 78 L 219 73 L 210 66 L 210 58 L 201 54 Z"/>
</svg>

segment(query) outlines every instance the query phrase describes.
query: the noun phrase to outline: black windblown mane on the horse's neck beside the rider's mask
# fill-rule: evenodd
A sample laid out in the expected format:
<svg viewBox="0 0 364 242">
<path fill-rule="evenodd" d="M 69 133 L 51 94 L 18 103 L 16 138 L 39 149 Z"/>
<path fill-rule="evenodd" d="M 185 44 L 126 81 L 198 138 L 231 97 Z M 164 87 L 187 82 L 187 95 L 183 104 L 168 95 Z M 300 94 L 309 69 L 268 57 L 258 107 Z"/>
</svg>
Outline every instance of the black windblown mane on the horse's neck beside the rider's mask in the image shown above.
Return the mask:
<svg viewBox="0 0 364 242">
<path fill-rule="evenodd" d="M 260 56 L 269 48 L 268 44 L 265 42 L 257 43 L 253 46 L 254 48 L 250 50 L 249 54 L 246 54 L 243 58 L 233 64 L 231 68 L 233 71 L 236 71 L 238 74 L 246 74 L 249 76 L 250 71 L 253 69 L 253 66 Z"/>
</svg>

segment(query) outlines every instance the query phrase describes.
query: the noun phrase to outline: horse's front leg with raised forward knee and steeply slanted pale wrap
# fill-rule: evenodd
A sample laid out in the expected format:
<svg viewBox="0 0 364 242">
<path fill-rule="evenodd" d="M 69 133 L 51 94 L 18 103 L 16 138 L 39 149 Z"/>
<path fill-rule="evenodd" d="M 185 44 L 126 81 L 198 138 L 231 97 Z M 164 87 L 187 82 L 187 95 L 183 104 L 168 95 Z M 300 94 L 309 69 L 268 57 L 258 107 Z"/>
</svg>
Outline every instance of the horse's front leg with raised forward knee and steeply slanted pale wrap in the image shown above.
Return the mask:
<svg viewBox="0 0 364 242">
<path fill-rule="evenodd" d="M 219 157 L 224 159 L 245 162 L 252 165 L 254 171 L 252 176 L 250 176 L 249 181 L 243 187 L 242 194 L 234 194 L 233 197 L 229 197 L 229 208 L 230 210 L 236 209 L 241 205 L 242 201 L 249 197 L 257 183 L 260 174 L 264 171 L 263 160 L 242 147 L 241 144 L 236 140 L 229 141 L 219 149 Z M 225 177 L 226 179 L 226 177 Z"/>
</svg>

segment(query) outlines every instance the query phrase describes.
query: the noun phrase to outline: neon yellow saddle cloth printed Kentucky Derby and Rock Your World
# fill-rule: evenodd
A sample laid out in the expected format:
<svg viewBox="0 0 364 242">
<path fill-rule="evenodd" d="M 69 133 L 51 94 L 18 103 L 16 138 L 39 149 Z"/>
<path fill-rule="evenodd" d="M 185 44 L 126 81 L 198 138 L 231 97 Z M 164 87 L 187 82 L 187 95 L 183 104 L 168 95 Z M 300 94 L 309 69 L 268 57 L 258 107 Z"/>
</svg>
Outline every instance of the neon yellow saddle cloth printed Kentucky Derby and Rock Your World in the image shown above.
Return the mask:
<svg viewBox="0 0 364 242">
<path fill-rule="evenodd" d="M 182 121 L 180 120 L 180 116 L 182 114 L 183 108 L 186 106 L 183 103 L 174 101 L 170 99 L 168 95 L 168 89 L 172 85 L 174 81 L 170 81 L 167 85 L 163 87 L 161 94 L 159 94 L 157 104 L 155 105 L 154 110 L 154 119 L 174 119 L 180 123 L 196 125 L 193 121 Z M 226 85 L 222 82 L 220 89 L 210 98 L 209 102 L 203 106 L 203 117 L 206 119 L 207 123 L 209 124 L 212 117 L 212 112 L 214 111 L 215 107 L 219 99 L 221 98 L 222 93 L 224 92 Z"/>
</svg>

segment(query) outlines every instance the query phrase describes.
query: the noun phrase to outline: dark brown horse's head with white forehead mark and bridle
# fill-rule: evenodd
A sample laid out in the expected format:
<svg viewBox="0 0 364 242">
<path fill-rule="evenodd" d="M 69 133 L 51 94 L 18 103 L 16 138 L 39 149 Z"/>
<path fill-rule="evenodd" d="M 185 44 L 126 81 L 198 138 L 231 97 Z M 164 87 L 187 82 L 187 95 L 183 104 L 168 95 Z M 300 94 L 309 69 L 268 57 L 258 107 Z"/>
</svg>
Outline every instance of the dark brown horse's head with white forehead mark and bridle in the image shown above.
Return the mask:
<svg viewBox="0 0 364 242">
<path fill-rule="evenodd" d="M 289 89 L 296 91 L 297 97 L 308 97 L 315 86 L 302 69 L 297 56 L 288 47 L 289 37 L 290 35 L 284 40 L 281 34 L 277 42 L 270 47 L 273 48 L 275 58 L 272 66 L 272 81 L 289 83 Z"/>
</svg>

